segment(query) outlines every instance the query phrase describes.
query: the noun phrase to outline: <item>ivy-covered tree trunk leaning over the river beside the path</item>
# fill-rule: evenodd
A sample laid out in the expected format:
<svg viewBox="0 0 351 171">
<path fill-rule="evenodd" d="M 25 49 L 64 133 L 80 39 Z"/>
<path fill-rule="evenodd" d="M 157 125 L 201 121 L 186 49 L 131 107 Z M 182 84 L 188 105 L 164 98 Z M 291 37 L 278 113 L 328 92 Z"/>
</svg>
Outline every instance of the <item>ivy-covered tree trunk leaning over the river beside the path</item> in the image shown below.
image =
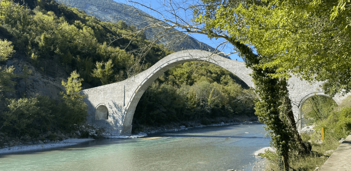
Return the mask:
<svg viewBox="0 0 351 171">
<path fill-rule="evenodd" d="M 289 170 L 289 151 L 299 149 L 299 153 L 308 153 L 306 146 L 297 132 L 287 80 L 273 78 L 278 68 L 264 68 L 262 64 L 269 58 L 254 54 L 252 49 L 237 40 L 230 42 L 238 48 L 247 67 L 252 69 L 252 80 L 260 100 L 255 104 L 255 114 L 259 121 L 266 124 L 270 132 L 272 145 L 277 150 L 281 170 Z"/>
</svg>

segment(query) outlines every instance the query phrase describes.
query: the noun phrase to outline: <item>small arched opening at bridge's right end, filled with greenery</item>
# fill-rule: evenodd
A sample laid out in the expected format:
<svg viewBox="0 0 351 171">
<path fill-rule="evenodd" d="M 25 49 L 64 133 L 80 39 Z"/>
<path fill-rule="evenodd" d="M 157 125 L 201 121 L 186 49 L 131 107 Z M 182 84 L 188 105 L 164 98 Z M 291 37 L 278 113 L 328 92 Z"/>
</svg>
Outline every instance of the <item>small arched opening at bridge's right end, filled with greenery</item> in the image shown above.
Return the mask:
<svg viewBox="0 0 351 171">
<path fill-rule="evenodd" d="M 329 96 L 313 95 L 302 103 L 300 114 L 302 127 L 326 119 L 338 104 Z"/>
</svg>

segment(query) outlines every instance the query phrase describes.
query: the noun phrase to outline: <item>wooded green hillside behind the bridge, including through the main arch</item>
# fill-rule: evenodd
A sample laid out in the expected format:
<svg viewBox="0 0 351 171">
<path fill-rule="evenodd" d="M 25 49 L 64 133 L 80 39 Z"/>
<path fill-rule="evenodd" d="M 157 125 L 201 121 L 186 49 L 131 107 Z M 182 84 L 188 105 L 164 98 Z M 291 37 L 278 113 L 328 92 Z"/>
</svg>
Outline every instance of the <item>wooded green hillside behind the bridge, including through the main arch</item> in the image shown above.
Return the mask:
<svg viewBox="0 0 351 171">
<path fill-rule="evenodd" d="M 81 88 L 122 81 L 172 53 L 161 44 L 141 52 L 148 41 L 132 34 L 135 27 L 122 21 L 102 22 L 51 0 L 25 4 L 0 0 L 0 23 L 0 62 L 16 59 L 25 63 L 17 66 L 23 68 L 23 74 L 14 74 L 13 67 L 0 71 L 0 146 L 19 139 L 34 142 L 94 136 L 86 131 L 75 134 L 87 115 Z M 111 37 L 123 38 L 112 41 Z M 33 95 L 29 89 L 18 92 L 20 80 L 32 79 L 29 73 L 33 71 L 68 77 L 62 81 L 59 98 Z M 252 94 L 229 71 L 213 64 L 184 63 L 146 90 L 135 112 L 134 128 L 182 121 L 210 124 L 218 117 L 222 122 L 254 116 Z"/>
</svg>

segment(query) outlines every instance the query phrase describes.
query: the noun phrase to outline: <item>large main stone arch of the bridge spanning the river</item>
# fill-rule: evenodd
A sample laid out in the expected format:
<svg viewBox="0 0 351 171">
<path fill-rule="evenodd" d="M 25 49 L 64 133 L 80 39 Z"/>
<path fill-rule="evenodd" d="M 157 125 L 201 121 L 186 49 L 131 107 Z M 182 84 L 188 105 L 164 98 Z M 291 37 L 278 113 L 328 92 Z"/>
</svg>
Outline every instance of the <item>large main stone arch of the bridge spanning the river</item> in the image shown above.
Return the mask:
<svg viewBox="0 0 351 171">
<path fill-rule="evenodd" d="M 254 86 L 251 77 L 249 76 L 249 74 L 252 73 L 252 70 L 246 68 L 245 65 L 243 65 L 243 62 L 233 61 L 203 50 L 185 50 L 173 53 L 155 63 L 151 68 L 135 76 L 135 80 L 139 80 L 137 82 L 140 82 L 140 84 L 134 91 L 130 101 L 127 102 L 128 104 L 126 105 L 127 109 L 123 125 L 124 128 L 121 132 L 122 134 L 126 134 L 127 132 L 131 131 L 131 127 L 129 128 L 127 126 L 131 126 L 135 108 L 137 107 L 137 104 L 147 87 L 168 69 L 171 69 L 178 64 L 191 61 L 206 61 L 216 64 L 238 76 L 248 86 Z M 127 131 L 124 132 L 124 130 Z"/>
</svg>

